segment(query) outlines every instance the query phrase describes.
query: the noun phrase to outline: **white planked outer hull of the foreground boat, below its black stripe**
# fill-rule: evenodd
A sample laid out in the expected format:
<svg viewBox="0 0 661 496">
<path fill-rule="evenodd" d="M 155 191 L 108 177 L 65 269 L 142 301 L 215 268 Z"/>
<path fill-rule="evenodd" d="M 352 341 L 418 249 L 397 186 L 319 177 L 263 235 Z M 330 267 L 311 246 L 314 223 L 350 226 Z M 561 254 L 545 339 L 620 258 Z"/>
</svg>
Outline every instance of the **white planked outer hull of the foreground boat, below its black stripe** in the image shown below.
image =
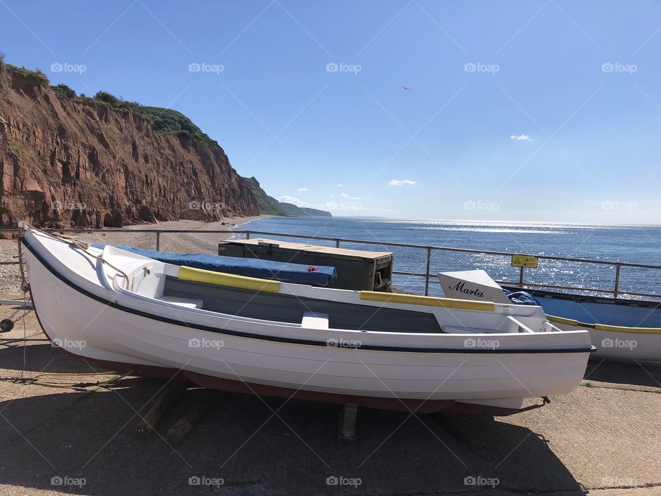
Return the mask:
<svg viewBox="0 0 661 496">
<path fill-rule="evenodd" d="M 238 333 L 241 323 L 231 319 L 219 318 L 220 329 L 209 331 L 187 323 L 190 312 L 185 309 L 144 302 L 132 308 L 118 297 L 94 297 L 56 273 L 34 247 L 24 257 L 39 322 L 64 351 L 104 368 L 185 378 L 227 391 L 419 413 L 450 409 L 504 414 L 520 411 L 527 397 L 576 389 L 589 355 L 585 347 L 439 353 L 246 338 Z M 156 320 L 148 311 L 170 311 L 171 316 Z"/>
</svg>

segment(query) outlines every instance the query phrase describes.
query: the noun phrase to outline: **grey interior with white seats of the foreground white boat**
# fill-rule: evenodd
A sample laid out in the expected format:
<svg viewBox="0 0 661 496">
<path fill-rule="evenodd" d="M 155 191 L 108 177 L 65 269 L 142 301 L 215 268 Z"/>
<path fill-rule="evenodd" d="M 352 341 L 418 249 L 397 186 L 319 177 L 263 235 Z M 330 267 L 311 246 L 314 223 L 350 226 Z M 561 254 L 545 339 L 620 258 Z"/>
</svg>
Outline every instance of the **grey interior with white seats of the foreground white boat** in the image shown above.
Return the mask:
<svg viewBox="0 0 661 496">
<path fill-rule="evenodd" d="M 118 250 L 111 247 L 107 247 L 106 251 L 110 253 L 105 255 L 118 253 Z M 516 315 L 512 316 L 495 311 L 494 304 L 490 302 L 468 302 L 471 307 L 481 305 L 488 308 L 483 309 L 485 311 L 470 312 L 460 322 L 452 311 L 443 309 L 439 312 L 438 307 L 443 305 L 434 305 L 437 303 L 434 300 L 439 298 L 355 291 L 360 300 L 364 299 L 364 293 L 370 293 L 371 296 L 365 299 L 374 299 L 376 295 L 377 302 L 362 304 L 359 301 L 328 298 L 328 291 L 346 293 L 345 290 L 320 288 L 315 288 L 315 295 L 319 297 L 314 298 L 315 295 L 293 295 L 289 291 L 280 291 L 281 283 L 273 280 L 179 267 L 134 257 L 125 257 L 126 263 L 123 265 L 127 269 L 131 288 L 129 291 L 180 307 L 242 318 L 301 324 L 309 329 L 392 333 L 535 333 L 560 330 L 545 320 L 540 307 L 520 307 Z M 121 288 L 123 284 L 124 277 L 114 273 L 114 286 Z M 381 296 L 400 300 L 417 298 L 421 301 L 415 302 L 414 309 L 402 309 L 388 302 L 378 302 Z M 440 300 L 463 302 L 447 298 Z M 417 308 L 420 310 L 417 311 Z M 439 320 L 439 316 L 446 318 Z"/>
</svg>

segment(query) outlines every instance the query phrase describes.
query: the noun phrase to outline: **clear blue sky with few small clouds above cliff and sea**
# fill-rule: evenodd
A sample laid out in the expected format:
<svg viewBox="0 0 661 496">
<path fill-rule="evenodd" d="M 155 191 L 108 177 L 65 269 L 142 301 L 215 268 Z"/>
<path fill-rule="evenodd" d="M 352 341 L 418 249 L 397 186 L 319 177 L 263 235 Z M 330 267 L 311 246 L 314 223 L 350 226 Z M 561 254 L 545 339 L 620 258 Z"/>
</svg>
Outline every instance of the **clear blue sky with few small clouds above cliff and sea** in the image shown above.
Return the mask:
<svg viewBox="0 0 661 496">
<path fill-rule="evenodd" d="M 183 112 L 277 198 L 336 215 L 661 222 L 653 1 L 1 0 L 0 12 L 8 62 Z"/>
</svg>

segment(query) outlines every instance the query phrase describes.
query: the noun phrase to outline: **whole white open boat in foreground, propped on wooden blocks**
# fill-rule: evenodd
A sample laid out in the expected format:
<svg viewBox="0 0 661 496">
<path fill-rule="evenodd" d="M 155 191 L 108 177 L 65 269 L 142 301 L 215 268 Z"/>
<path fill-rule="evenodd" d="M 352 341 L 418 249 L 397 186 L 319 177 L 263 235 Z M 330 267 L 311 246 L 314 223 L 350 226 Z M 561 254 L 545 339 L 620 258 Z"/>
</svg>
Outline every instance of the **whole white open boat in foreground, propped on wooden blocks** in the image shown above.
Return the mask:
<svg viewBox="0 0 661 496">
<path fill-rule="evenodd" d="M 587 331 L 540 307 L 297 285 L 160 262 L 22 225 L 48 338 L 94 366 L 226 391 L 507 415 L 574 391 Z M 528 402 L 529 403 L 529 402 Z"/>
</svg>

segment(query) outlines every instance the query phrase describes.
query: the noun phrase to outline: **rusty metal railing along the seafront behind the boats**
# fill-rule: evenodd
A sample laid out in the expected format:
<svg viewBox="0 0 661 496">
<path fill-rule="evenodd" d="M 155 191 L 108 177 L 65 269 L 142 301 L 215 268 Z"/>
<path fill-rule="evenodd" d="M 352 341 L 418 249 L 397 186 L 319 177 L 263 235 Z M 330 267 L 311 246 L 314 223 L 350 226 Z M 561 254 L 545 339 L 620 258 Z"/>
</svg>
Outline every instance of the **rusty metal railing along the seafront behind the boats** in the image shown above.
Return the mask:
<svg viewBox="0 0 661 496">
<path fill-rule="evenodd" d="M 244 234 L 246 240 L 250 239 L 252 234 L 260 236 L 277 236 L 279 238 L 298 238 L 306 240 L 320 240 L 320 241 L 331 241 L 335 242 L 335 247 L 339 248 L 341 243 L 351 243 L 356 245 L 375 245 L 375 246 L 384 246 L 384 247 L 399 247 L 399 248 L 412 248 L 426 251 L 426 271 L 424 273 L 420 272 L 406 272 L 406 271 L 395 271 L 393 274 L 399 276 L 413 276 L 413 277 L 423 277 L 425 278 L 425 296 L 429 294 L 429 280 L 434 277 L 434 274 L 430 273 L 431 260 L 432 260 L 432 251 L 452 251 L 455 253 L 465 253 L 465 254 L 474 254 L 474 255 L 490 255 L 490 256 L 505 256 L 512 257 L 514 255 L 529 255 L 534 256 L 538 260 L 555 260 L 560 262 L 576 262 L 576 263 L 586 263 L 594 265 L 602 265 L 614 267 L 615 269 L 615 280 L 613 289 L 605 288 L 591 288 L 591 287 L 580 287 L 580 286 L 560 286 L 560 285 L 550 285 L 539 282 L 527 282 L 524 280 L 524 267 L 520 267 L 518 281 L 510 280 L 497 280 L 499 284 L 504 285 L 516 285 L 518 287 L 544 287 L 550 289 L 569 289 L 574 291 L 592 291 L 596 293 L 607 293 L 612 295 L 613 298 L 618 298 L 621 295 L 628 296 L 642 296 L 647 298 L 661 298 L 661 294 L 655 293 L 642 293 L 638 291 L 623 291 L 620 289 L 620 273 L 622 267 L 636 268 L 636 269 L 655 269 L 661 270 L 661 265 L 647 265 L 647 264 L 636 264 L 636 263 L 627 263 L 627 262 L 610 262 L 607 260 L 589 260 L 587 258 L 569 258 L 569 257 L 558 257 L 558 256 L 549 256 L 549 255 L 530 255 L 530 254 L 516 254 L 510 251 L 492 251 L 492 250 L 479 250 L 479 249 L 470 249 L 470 248 L 454 248 L 454 247 L 441 247 L 441 246 L 428 246 L 428 245 L 412 245 L 408 243 L 397 243 L 397 242 L 384 242 L 384 241 L 373 241 L 373 240 L 355 240 L 350 238 L 331 238 L 328 236 L 308 236 L 306 234 L 286 234 L 286 233 L 275 233 L 269 231 L 250 231 L 250 230 L 235 230 L 235 231 L 221 231 L 221 230 L 201 230 L 201 229 L 119 229 L 119 228 L 104 228 L 104 229 L 41 229 L 42 231 L 47 232 L 71 232 L 71 233 L 95 233 L 95 232 L 121 232 L 121 233 L 152 233 L 156 235 L 156 249 L 160 250 L 160 237 L 163 234 Z M 17 233 L 20 229 L 0 229 L 0 233 Z M 18 264 L 16 261 L 0 261 L 1 265 L 10 265 Z"/>
</svg>

